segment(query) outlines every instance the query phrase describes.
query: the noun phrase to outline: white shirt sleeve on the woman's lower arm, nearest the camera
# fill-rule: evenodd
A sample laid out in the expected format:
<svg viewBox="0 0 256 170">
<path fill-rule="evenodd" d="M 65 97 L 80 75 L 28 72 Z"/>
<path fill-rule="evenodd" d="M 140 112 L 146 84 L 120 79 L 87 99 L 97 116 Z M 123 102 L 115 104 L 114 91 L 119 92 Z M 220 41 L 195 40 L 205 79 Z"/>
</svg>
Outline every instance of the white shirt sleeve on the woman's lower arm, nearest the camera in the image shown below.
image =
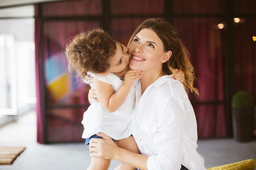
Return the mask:
<svg viewBox="0 0 256 170">
<path fill-rule="evenodd" d="M 181 168 L 185 103 L 180 96 L 170 96 L 162 105 L 157 131 L 153 139 L 158 155 L 149 156 L 148 170 L 179 170 Z"/>
</svg>

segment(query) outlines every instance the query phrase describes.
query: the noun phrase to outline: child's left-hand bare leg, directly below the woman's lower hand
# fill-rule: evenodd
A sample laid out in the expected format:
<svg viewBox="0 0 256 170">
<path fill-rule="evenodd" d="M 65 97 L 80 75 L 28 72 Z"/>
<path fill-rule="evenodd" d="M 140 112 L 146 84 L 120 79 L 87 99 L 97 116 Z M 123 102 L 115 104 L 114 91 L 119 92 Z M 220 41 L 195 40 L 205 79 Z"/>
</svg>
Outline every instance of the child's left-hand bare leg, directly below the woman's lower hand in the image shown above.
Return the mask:
<svg viewBox="0 0 256 170">
<path fill-rule="evenodd" d="M 92 161 L 87 170 L 108 170 L 111 159 L 104 159 L 101 157 L 92 157 Z"/>
</svg>

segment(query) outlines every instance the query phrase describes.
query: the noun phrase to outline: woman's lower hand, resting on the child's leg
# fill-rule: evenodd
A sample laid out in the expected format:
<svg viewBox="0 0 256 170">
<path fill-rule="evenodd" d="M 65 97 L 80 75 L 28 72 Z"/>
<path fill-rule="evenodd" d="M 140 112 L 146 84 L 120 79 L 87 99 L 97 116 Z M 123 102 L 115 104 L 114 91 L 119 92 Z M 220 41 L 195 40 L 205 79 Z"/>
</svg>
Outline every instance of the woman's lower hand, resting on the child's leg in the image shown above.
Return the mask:
<svg viewBox="0 0 256 170">
<path fill-rule="evenodd" d="M 105 135 L 105 133 L 97 133 L 96 135 L 103 139 L 92 138 L 90 140 L 90 156 L 113 159 L 114 154 L 118 152 L 119 147 L 117 147 L 113 140 L 109 136 Z"/>
</svg>

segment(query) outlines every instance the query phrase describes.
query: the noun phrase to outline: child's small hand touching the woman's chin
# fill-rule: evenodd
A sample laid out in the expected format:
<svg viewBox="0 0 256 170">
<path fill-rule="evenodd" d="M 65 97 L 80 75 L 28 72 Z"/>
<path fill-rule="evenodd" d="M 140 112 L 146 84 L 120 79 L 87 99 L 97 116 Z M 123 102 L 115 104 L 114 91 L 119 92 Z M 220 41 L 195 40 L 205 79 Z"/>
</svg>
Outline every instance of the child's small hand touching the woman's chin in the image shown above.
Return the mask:
<svg viewBox="0 0 256 170">
<path fill-rule="evenodd" d="M 129 70 L 124 75 L 124 84 L 128 87 L 132 87 L 136 80 L 141 79 L 143 72 L 141 70 Z"/>
</svg>

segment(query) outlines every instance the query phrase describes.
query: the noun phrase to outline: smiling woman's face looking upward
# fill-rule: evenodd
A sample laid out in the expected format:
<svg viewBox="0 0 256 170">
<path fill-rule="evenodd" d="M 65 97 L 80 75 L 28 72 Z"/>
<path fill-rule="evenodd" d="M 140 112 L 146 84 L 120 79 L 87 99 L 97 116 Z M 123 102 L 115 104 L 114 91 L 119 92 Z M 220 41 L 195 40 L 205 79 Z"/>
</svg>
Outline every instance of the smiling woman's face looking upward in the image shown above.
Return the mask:
<svg viewBox="0 0 256 170">
<path fill-rule="evenodd" d="M 162 68 L 164 46 L 153 30 L 140 30 L 128 47 L 128 53 L 131 57 L 129 66 L 133 70 L 146 71 Z"/>
</svg>

